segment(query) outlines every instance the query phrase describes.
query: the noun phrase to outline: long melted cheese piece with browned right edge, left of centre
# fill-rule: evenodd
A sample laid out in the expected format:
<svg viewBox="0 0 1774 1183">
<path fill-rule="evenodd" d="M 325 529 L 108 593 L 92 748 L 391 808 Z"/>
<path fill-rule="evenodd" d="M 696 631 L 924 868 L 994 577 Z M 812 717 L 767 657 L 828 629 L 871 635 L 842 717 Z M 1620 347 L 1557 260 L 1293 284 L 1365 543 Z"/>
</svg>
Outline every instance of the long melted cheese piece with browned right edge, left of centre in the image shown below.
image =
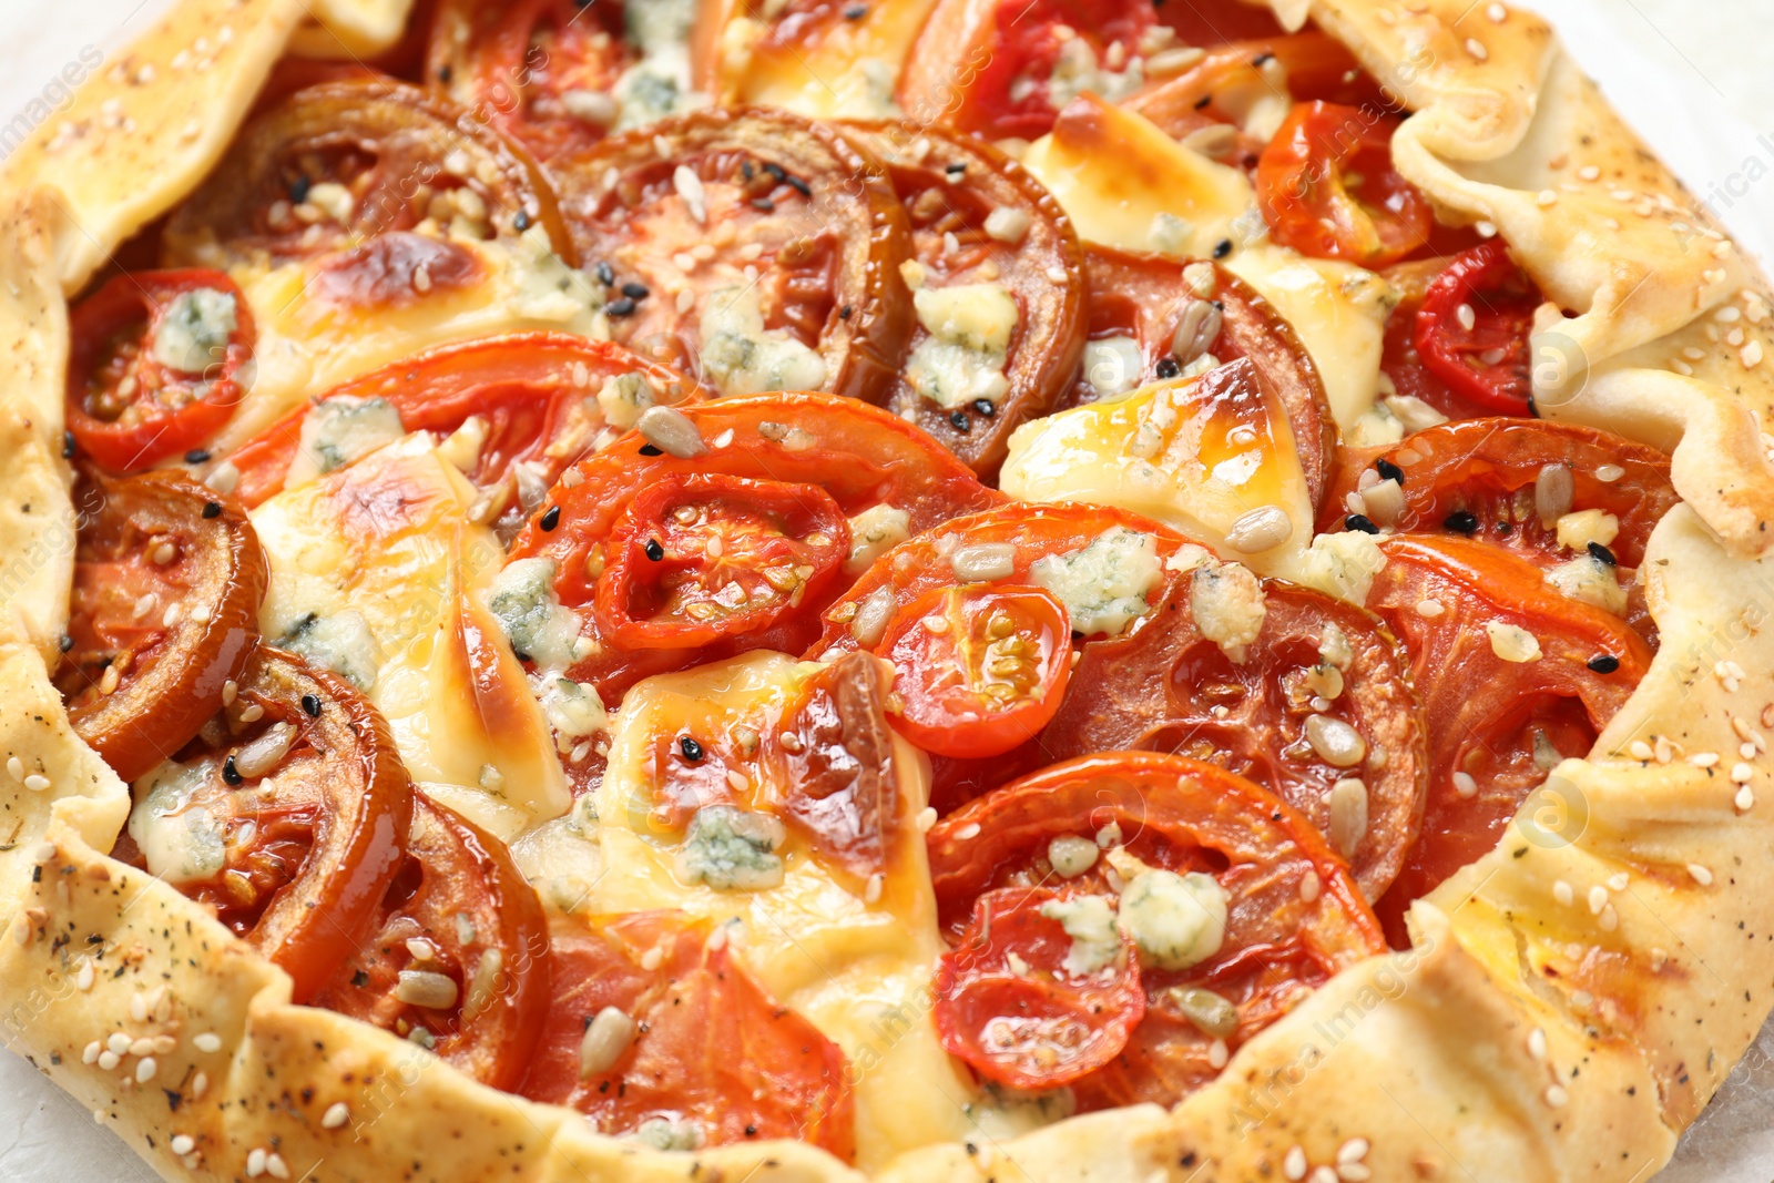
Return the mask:
<svg viewBox="0 0 1774 1183">
<path fill-rule="evenodd" d="M 271 644 L 344 667 L 413 779 L 500 837 L 566 812 L 553 740 L 484 594 L 504 562 L 475 490 L 426 435 L 252 513 Z"/>
</svg>

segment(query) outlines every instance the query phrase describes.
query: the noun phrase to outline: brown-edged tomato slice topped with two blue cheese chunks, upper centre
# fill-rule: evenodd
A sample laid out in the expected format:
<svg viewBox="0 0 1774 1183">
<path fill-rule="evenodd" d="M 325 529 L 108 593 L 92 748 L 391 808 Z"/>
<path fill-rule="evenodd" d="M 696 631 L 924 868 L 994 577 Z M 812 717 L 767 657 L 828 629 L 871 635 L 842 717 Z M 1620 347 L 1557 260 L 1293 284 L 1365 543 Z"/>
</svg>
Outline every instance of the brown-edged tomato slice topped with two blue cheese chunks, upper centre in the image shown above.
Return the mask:
<svg viewBox="0 0 1774 1183">
<path fill-rule="evenodd" d="M 1084 259 L 1059 202 L 1013 160 L 938 128 L 855 124 L 912 222 L 919 280 L 898 415 L 990 479 L 1009 433 L 1047 415 L 1084 349 Z"/>
</svg>

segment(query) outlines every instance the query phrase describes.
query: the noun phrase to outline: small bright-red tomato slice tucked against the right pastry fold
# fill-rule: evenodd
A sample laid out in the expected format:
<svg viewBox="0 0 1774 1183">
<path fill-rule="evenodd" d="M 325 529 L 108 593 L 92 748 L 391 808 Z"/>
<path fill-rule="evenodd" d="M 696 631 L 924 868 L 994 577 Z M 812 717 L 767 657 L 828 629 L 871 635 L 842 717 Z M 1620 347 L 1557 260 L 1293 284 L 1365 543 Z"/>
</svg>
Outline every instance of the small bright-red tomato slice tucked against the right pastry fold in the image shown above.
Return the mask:
<svg viewBox="0 0 1774 1183">
<path fill-rule="evenodd" d="M 1533 280 L 1494 238 L 1430 280 L 1417 310 L 1417 356 L 1455 396 L 1492 413 L 1531 415 L 1529 333 L 1540 303 Z"/>
</svg>

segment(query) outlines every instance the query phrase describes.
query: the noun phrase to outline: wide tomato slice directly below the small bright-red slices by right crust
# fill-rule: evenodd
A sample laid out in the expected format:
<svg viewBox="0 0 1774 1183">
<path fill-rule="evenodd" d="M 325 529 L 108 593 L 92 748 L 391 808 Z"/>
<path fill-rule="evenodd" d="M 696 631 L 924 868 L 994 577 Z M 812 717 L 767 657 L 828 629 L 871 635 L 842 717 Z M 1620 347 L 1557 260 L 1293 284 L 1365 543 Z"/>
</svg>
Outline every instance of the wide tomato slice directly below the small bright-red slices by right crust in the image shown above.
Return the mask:
<svg viewBox="0 0 1774 1183">
<path fill-rule="evenodd" d="M 1387 481 L 1396 495 L 1375 495 Z M 1318 529 L 1339 530 L 1359 513 L 1401 534 L 1467 534 L 1545 564 L 1584 550 L 1570 544 L 1577 527 L 1636 568 L 1676 500 L 1669 458 L 1657 449 L 1579 424 L 1469 419 L 1346 452 Z M 1591 511 L 1593 525 L 1570 520 L 1559 539 L 1559 520 Z"/>
</svg>

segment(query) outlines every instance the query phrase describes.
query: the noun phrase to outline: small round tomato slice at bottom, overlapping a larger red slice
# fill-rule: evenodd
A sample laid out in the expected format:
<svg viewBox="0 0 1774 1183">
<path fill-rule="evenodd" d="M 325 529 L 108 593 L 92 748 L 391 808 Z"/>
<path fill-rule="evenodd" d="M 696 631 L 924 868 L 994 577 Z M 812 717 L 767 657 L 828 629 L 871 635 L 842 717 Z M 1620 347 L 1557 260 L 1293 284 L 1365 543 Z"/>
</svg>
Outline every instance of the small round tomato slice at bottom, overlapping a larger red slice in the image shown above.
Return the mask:
<svg viewBox="0 0 1774 1183">
<path fill-rule="evenodd" d="M 974 901 L 972 924 L 937 961 L 937 1036 L 981 1077 L 1057 1089 L 1111 1064 L 1146 1016 L 1134 940 L 1112 928 L 1080 965 L 1057 919 L 1112 917 L 1103 896 L 1001 887 Z"/>
</svg>

